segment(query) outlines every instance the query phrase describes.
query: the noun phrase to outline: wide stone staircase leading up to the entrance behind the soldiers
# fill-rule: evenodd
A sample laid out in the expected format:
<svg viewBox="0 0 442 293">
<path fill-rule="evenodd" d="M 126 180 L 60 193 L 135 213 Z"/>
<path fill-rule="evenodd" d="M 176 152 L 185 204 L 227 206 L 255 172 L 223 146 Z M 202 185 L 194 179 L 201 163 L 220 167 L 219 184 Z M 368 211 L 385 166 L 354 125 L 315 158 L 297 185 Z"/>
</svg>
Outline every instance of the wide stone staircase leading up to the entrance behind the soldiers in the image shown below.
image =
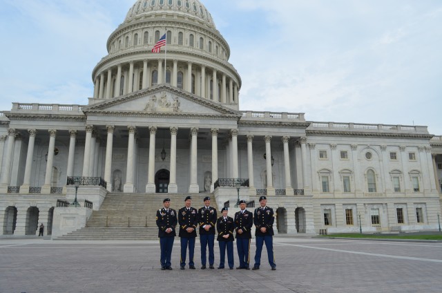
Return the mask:
<svg viewBox="0 0 442 293">
<path fill-rule="evenodd" d="M 87 227 L 78 229 L 55 240 L 156 240 L 157 210 L 163 199 L 171 199 L 171 208 L 178 211 L 184 206 L 182 193 L 108 193 L 99 211 L 93 211 Z M 194 193 L 192 206 L 202 207 L 207 193 Z M 211 196 L 213 197 L 213 196 Z M 212 203 L 215 202 L 213 198 Z"/>
</svg>

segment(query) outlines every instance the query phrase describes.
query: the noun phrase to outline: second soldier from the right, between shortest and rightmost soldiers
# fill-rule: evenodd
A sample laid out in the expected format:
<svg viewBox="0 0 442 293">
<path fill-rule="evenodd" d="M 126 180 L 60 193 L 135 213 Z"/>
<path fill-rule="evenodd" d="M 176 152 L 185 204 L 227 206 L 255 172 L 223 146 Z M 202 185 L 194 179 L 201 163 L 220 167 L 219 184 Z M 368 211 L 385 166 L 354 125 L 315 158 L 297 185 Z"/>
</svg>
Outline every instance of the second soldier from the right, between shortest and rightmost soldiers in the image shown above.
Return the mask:
<svg viewBox="0 0 442 293">
<path fill-rule="evenodd" d="M 253 214 L 247 211 L 245 200 L 240 200 L 240 209 L 235 214 L 236 249 L 240 258 L 240 266 L 236 270 L 250 270 L 250 229 L 253 226 Z"/>
</svg>

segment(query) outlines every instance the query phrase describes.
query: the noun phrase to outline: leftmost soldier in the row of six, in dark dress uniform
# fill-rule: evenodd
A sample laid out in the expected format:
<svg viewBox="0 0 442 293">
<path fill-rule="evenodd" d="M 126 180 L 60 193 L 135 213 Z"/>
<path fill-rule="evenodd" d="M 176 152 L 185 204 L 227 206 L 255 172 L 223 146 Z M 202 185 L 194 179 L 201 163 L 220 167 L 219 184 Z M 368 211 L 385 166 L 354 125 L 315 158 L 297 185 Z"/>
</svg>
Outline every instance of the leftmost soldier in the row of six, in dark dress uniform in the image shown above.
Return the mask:
<svg viewBox="0 0 442 293">
<path fill-rule="evenodd" d="M 164 207 L 157 211 L 158 237 L 160 238 L 160 263 L 161 270 L 172 270 L 171 256 L 173 240 L 175 239 L 175 226 L 177 225 L 177 212 L 169 209 L 171 200 L 164 198 Z"/>
</svg>

